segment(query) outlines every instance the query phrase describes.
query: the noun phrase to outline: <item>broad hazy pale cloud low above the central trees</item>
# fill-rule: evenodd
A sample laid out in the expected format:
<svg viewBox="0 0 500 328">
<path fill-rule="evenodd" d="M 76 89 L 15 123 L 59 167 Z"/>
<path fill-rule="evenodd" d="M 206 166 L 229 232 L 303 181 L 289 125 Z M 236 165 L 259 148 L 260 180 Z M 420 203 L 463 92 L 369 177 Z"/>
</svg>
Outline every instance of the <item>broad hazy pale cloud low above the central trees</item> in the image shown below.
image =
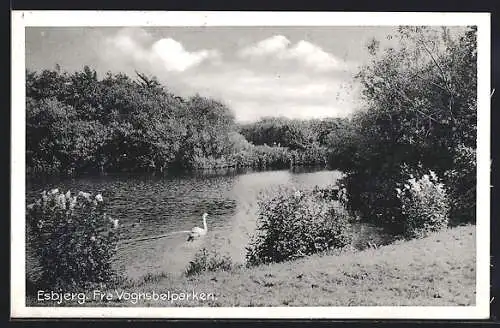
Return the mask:
<svg viewBox="0 0 500 328">
<path fill-rule="evenodd" d="M 246 68 L 185 76 L 183 81 L 200 94 L 223 100 L 243 121 L 273 115 L 345 116 L 353 110 L 344 82 L 335 77 L 296 72 L 277 77 Z"/>
</svg>

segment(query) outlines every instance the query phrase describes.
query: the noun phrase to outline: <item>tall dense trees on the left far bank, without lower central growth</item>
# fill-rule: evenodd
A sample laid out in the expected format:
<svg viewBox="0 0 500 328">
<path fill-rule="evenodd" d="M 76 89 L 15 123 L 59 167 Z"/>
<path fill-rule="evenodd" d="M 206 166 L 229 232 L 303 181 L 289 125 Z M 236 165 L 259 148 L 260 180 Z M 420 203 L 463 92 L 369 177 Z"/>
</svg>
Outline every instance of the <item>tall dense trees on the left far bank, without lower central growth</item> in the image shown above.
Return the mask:
<svg viewBox="0 0 500 328">
<path fill-rule="evenodd" d="M 231 111 L 168 92 L 154 78 L 28 72 L 27 164 L 33 171 L 163 171 L 229 153 Z"/>
</svg>

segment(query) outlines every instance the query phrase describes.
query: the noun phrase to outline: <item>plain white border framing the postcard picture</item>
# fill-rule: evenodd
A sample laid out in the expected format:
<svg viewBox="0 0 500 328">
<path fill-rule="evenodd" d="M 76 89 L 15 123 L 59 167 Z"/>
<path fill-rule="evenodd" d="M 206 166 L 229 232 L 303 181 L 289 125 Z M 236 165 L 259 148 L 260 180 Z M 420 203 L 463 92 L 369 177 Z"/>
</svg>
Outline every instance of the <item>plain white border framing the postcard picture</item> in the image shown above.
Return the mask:
<svg viewBox="0 0 500 328">
<path fill-rule="evenodd" d="M 409 12 L 13 11 L 11 317 L 486 319 L 490 293 L 490 14 Z M 30 26 L 478 26 L 476 305 L 408 307 L 26 307 L 25 27 Z"/>
</svg>

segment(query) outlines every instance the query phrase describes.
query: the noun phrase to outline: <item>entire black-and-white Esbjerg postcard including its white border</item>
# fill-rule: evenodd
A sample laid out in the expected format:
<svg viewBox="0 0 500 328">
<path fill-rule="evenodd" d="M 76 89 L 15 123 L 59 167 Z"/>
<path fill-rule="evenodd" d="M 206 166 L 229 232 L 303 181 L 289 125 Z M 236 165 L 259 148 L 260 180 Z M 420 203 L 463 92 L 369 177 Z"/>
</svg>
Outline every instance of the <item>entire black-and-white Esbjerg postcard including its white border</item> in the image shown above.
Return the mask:
<svg viewBox="0 0 500 328">
<path fill-rule="evenodd" d="M 489 14 L 12 17 L 13 316 L 489 316 Z"/>
</svg>

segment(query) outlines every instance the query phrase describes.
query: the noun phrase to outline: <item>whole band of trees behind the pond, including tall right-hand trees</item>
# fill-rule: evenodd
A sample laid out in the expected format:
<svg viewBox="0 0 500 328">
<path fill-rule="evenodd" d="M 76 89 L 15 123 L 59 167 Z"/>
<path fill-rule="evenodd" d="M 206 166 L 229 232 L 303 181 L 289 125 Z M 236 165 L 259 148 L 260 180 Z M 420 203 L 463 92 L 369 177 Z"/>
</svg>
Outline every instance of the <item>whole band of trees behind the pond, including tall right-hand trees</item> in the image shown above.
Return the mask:
<svg viewBox="0 0 500 328">
<path fill-rule="evenodd" d="M 367 45 L 356 78 L 364 106 L 348 118 L 264 117 L 238 124 L 224 103 L 179 97 L 154 77 L 89 67 L 26 73 L 30 172 L 169 171 L 325 165 L 346 173 L 349 206 L 392 224 L 395 188 L 432 170 L 453 217 L 475 220 L 476 27 L 400 27 L 397 46 Z M 307 110 L 307 108 L 304 108 Z"/>
</svg>

